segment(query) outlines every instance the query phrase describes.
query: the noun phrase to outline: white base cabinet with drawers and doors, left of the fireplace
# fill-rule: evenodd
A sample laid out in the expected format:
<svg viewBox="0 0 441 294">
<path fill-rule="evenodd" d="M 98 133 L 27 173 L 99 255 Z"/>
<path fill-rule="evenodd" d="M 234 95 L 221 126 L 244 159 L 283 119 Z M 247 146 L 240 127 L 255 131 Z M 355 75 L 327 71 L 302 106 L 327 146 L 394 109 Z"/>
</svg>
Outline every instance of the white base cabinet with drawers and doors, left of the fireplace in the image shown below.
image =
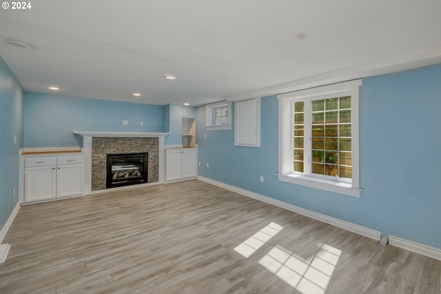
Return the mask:
<svg viewBox="0 0 441 294">
<path fill-rule="evenodd" d="M 25 158 L 24 202 L 84 195 L 84 156 Z"/>
</svg>

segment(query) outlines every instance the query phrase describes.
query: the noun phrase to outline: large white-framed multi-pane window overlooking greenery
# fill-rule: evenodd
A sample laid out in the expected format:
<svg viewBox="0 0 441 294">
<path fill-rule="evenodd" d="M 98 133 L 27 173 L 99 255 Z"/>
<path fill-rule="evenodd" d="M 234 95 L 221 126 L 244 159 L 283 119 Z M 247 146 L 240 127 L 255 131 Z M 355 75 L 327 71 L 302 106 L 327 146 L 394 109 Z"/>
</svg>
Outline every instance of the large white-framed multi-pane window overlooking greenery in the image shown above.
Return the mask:
<svg viewBox="0 0 441 294">
<path fill-rule="evenodd" d="M 361 80 L 279 95 L 279 179 L 360 195 Z"/>
</svg>

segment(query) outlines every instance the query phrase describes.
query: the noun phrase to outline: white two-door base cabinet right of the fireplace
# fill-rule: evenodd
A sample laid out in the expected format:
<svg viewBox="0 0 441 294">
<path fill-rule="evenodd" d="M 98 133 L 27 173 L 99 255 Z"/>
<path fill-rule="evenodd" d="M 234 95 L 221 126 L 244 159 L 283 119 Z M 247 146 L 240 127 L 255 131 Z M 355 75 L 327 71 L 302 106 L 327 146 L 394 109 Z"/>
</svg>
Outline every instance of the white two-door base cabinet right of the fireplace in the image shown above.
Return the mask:
<svg viewBox="0 0 441 294">
<path fill-rule="evenodd" d="M 196 148 L 165 149 L 165 181 L 196 177 Z"/>
</svg>

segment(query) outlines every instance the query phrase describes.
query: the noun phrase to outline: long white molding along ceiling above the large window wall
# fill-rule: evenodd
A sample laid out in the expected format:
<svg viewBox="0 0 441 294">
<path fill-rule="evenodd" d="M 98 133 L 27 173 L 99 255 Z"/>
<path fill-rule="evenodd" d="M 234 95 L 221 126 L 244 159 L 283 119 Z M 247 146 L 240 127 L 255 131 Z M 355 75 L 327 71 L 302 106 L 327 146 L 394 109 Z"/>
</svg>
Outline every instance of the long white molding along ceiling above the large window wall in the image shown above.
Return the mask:
<svg viewBox="0 0 441 294">
<path fill-rule="evenodd" d="M 240 101 L 250 97 L 265 97 L 269 95 L 278 95 L 286 92 L 294 92 L 307 88 L 325 86 L 329 84 L 350 81 L 352 79 L 362 79 L 375 75 L 385 75 L 391 72 L 400 72 L 412 68 L 423 66 L 432 66 L 441 63 L 441 46 L 436 46 L 427 50 L 412 52 L 406 55 L 380 59 L 368 63 L 362 63 L 358 66 L 350 66 L 339 70 L 324 72 L 311 77 L 289 81 L 287 83 L 268 86 L 242 94 L 226 97 L 227 101 Z"/>
</svg>

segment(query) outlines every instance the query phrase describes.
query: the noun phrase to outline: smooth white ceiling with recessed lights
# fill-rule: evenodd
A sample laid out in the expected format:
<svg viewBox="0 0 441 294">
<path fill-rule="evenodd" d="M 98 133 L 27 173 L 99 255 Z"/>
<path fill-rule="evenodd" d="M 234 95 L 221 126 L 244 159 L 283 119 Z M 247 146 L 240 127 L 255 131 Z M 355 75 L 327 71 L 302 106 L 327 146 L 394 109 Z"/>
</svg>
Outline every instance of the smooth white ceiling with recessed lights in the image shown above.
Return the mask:
<svg viewBox="0 0 441 294">
<path fill-rule="evenodd" d="M 441 63 L 440 0 L 31 5 L 0 10 L 0 56 L 31 92 L 57 85 L 61 95 L 201 105 Z M 10 46 L 10 39 L 30 48 Z"/>
</svg>

